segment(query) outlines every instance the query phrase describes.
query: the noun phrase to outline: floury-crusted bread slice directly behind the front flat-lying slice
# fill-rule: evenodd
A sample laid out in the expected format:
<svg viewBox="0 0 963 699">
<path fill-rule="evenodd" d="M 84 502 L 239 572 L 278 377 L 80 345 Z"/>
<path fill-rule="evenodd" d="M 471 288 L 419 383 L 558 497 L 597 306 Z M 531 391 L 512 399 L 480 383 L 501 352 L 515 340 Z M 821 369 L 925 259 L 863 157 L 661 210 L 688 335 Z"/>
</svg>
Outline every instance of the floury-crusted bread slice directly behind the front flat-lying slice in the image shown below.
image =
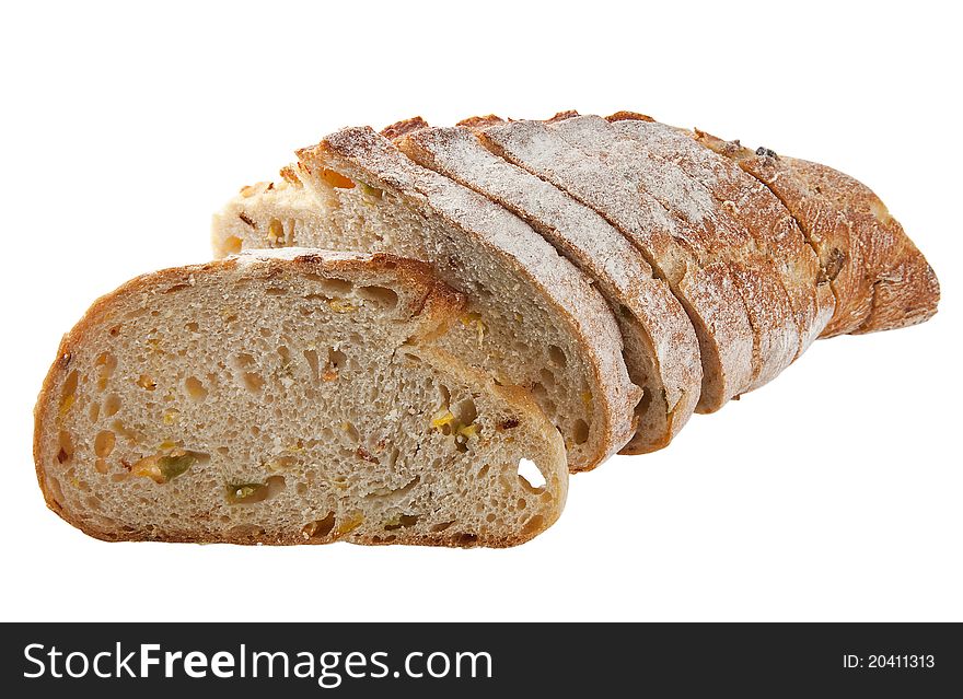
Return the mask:
<svg viewBox="0 0 963 699">
<path fill-rule="evenodd" d="M 286 185 L 245 188 L 214 218 L 213 247 L 309 245 L 390 251 L 430 263 L 467 296 L 443 349 L 530 388 L 565 438 L 572 470 L 635 432 L 642 391 L 592 281 L 526 223 L 410 161 L 368 127 L 299 152 Z"/>
</svg>

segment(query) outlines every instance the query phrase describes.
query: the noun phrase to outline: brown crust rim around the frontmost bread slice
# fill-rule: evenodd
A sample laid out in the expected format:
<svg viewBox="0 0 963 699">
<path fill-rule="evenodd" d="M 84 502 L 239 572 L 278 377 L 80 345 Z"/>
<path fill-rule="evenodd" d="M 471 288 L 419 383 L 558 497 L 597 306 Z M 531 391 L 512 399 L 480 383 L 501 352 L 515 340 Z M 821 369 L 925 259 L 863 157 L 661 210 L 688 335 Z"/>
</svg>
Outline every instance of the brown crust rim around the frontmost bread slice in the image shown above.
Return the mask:
<svg viewBox="0 0 963 699">
<path fill-rule="evenodd" d="M 421 546 L 446 546 L 472 548 L 486 546 L 503 548 L 515 546 L 530 540 L 534 536 L 548 528 L 560 514 L 567 494 L 566 457 L 565 447 L 555 427 L 544 415 L 531 394 L 515 386 L 499 386 L 478 370 L 464 365 L 444 350 L 429 345 L 417 346 L 417 352 L 422 358 L 429 359 L 433 365 L 443 366 L 450 373 L 466 377 L 469 384 L 485 385 L 491 393 L 498 395 L 504 403 L 514 407 L 523 419 L 531 420 L 537 431 L 548 435 L 547 441 L 552 450 L 552 463 L 557 465 L 556 471 L 550 476 L 554 479 L 553 487 L 558 493 L 555 509 L 542 522 L 541 526 L 520 532 L 517 536 L 491 537 L 484 539 L 466 538 L 460 534 L 438 536 L 425 536 L 411 534 L 405 529 L 398 529 L 392 541 L 380 540 L 379 537 L 362 537 L 355 535 L 334 536 L 325 540 L 305 540 L 299 534 L 290 536 L 268 536 L 264 532 L 252 531 L 251 533 L 224 533 L 223 535 L 209 536 L 184 531 L 135 531 L 135 532 L 109 532 L 97 528 L 84 522 L 74 513 L 65 509 L 57 501 L 45 477 L 45 461 L 49 461 L 51 454 L 44 453 L 45 439 L 50 430 L 58 429 L 51 418 L 51 410 L 57 410 L 57 391 L 62 385 L 71 366 L 71 356 L 74 348 L 86 341 L 90 333 L 102 325 L 119 301 L 130 294 L 139 294 L 162 288 L 174 288 L 185 283 L 194 283 L 195 276 L 230 272 L 255 275 L 258 279 L 269 279 L 278 271 L 290 270 L 294 266 L 297 273 L 316 273 L 338 277 L 344 275 L 348 278 L 364 272 L 383 272 L 391 270 L 397 276 L 399 283 L 413 292 L 411 303 L 404 308 L 406 314 L 418 317 L 419 322 L 413 341 L 425 341 L 443 333 L 444 328 L 461 314 L 465 299 L 462 294 L 438 280 L 431 267 L 426 263 L 398 257 L 386 253 L 375 254 L 345 254 L 332 251 L 318 251 L 309 248 L 282 248 L 277 251 L 251 251 L 237 257 L 229 257 L 222 260 L 204 265 L 175 267 L 162 269 L 136 277 L 119 288 L 97 299 L 81 321 L 67 333 L 60 341 L 57 359 L 47 372 L 37 403 L 34 408 L 34 463 L 37 482 L 43 493 L 47 508 L 62 520 L 82 531 L 93 538 L 104 541 L 169 541 L 169 543 L 196 543 L 196 544 L 243 544 L 243 545 L 320 545 L 334 540 L 349 540 L 356 544 L 383 545 L 407 544 Z M 247 268 L 251 268 L 250 271 Z M 414 349 L 414 347 L 413 347 Z"/>
</svg>

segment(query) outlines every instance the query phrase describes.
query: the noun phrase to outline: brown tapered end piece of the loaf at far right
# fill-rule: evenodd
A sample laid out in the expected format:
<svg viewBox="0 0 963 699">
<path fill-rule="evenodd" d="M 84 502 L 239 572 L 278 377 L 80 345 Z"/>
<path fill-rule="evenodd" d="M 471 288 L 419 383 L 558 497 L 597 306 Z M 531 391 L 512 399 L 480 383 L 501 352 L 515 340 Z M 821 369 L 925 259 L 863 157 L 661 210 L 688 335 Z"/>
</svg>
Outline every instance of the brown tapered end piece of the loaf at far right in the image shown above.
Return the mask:
<svg viewBox="0 0 963 699">
<path fill-rule="evenodd" d="M 866 185 L 767 148 L 751 151 L 699 130 L 689 136 L 768 187 L 805 233 L 819 256 L 820 279 L 835 295 L 822 337 L 904 327 L 937 312 L 940 286 L 932 267 Z"/>
</svg>

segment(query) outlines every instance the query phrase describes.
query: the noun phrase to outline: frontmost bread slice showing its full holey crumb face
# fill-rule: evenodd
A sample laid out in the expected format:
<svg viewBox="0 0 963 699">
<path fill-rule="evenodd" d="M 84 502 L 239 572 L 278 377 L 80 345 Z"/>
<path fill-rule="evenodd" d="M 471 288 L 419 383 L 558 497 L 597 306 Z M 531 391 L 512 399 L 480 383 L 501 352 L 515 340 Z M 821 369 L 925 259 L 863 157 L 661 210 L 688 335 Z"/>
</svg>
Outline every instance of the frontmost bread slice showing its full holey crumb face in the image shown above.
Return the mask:
<svg viewBox="0 0 963 699">
<path fill-rule="evenodd" d="M 526 392 L 441 349 L 463 310 L 391 255 L 253 252 L 134 279 L 44 384 L 47 503 L 108 540 L 522 543 L 564 505 L 562 440 Z"/>
</svg>

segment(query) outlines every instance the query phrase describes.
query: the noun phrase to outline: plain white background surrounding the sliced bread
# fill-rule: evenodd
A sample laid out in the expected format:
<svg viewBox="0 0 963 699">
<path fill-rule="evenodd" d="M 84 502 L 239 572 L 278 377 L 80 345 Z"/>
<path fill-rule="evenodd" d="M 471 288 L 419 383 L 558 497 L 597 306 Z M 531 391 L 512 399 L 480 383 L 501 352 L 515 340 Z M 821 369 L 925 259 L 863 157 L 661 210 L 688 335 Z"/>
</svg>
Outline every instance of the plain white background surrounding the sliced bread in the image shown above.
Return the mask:
<svg viewBox="0 0 963 699">
<path fill-rule="evenodd" d="M 963 619 L 953 3 L 8 4 L 2 619 Z M 942 5 L 942 7 L 941 7 Z M 95 296 L 202 261 L 211 213 L 346 125 L 636 109 L 834 165 L 939 315 L 817 342 L 511 550 L 104 544 L 48 512 L 32 408 Z"/>
</svg>

